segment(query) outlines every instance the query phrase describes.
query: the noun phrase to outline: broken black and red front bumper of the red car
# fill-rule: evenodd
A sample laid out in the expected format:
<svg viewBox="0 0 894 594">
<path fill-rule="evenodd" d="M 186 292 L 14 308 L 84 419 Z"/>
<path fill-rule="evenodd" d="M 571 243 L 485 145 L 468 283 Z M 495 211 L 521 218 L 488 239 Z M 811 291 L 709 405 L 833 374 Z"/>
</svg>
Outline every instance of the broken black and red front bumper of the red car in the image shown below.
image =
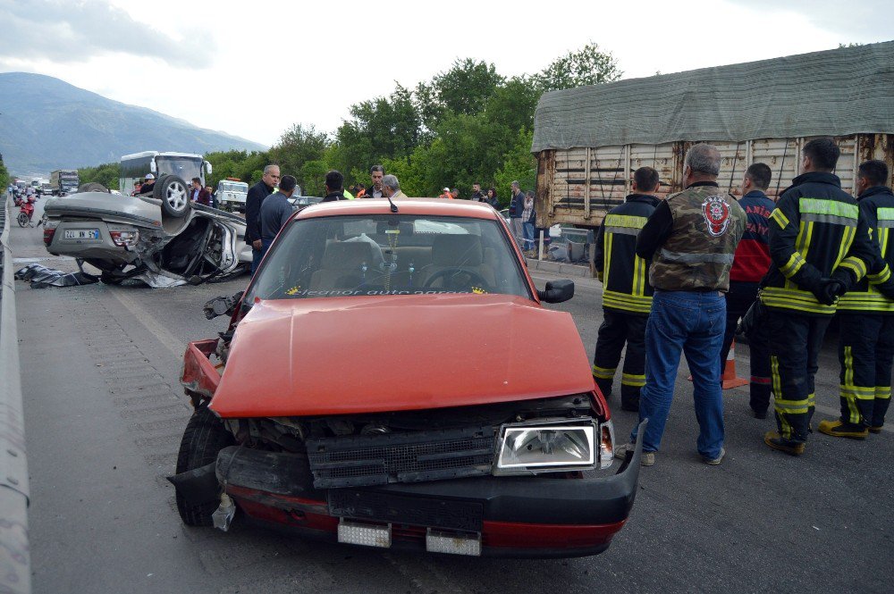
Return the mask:
<svg viewBox="0 0 894 594">
<path fill-rule="evenodd" d="M 600 478 L 485 476 L 320 490 L 305 456 L 232 446 L 217 457 L 212 482 L 252 519 L 305 536 L 334 541 L 339 523 L 354 521 L 390 526 L 392 548 L 426 550 L 426 531 L 434 530 L 480 536 L 485 556 L 586 556 L 608 548 L 627 521 L 641 453 L 637 445 L 617 473 Z"/>
</svg>

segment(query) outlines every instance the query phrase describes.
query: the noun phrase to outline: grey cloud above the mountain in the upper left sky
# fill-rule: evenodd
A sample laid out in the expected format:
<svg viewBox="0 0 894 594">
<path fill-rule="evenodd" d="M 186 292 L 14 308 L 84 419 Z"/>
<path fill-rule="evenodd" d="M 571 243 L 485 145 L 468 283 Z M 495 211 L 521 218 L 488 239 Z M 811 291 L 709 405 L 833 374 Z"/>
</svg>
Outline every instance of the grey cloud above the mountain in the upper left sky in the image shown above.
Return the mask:
<svg viewBox="0 0 894 594">
<path fill-rule="evenodd" d="M 215 49 L 207 39 L 178 36 L 179 23 L 172 19 L 161 16 L 148 25 L 101 1 L 0 0 L 0 22 L 0 59 L 77 63 L 105 54 L 131 54 L 201 69 L 211 65 Z M 165 27 L 172 30 L 163 32 Z"/>
</svg>

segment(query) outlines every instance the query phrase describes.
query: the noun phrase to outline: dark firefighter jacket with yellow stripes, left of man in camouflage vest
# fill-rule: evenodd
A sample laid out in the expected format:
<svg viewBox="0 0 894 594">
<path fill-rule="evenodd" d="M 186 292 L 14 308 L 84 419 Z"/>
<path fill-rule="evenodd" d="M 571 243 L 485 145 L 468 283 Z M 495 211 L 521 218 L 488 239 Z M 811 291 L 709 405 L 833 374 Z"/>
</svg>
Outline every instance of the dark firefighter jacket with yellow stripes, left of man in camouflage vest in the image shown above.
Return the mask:
<svg viewBox="0 0 894 594">
<path fill-rule="evenodd" d="M 637 255 L 637 235 L 655 206 L 654 196 L 631 194 L 612 208 L 596 231 L 594 264 L 603 281 L 603 307 L 613 311 L 647 315 L 654 289 L 649 284 L 649 260 Z"/>
</svg>

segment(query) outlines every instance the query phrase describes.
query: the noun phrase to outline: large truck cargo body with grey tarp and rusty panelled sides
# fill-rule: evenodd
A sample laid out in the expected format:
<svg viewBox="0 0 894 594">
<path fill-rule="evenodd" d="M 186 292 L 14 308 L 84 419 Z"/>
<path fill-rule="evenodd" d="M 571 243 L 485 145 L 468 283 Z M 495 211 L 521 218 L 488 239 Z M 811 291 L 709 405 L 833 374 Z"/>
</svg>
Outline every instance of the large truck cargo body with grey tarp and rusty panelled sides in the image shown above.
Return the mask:
<svg viewBox="0 0 894 594">
<path fill-rule="evenodd" d="M 720 150 L 722 190 L 738 196 L 746 168 L 766 163 L 773 198 L 798 175 L 805 142 L 833 137 L 853 193 L 859 163 L 894 170 L 891 63 L 894 41 L 546 93 L 531 147 L 537 224 L 598 228 L 643 166 L 658 171 L 660 196 L 679 192 L 698 142 Z"/>
</svg>

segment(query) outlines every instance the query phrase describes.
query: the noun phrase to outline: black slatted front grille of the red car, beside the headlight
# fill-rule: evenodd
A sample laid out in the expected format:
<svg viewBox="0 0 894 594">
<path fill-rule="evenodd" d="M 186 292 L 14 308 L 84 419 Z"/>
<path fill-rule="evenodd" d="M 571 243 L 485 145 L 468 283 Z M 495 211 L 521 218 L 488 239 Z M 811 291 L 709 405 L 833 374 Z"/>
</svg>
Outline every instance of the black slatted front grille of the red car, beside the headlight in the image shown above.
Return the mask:
<svg viewBox="0 0 894 594">
<path fill-rule="evenodd" d="M 493 427 L 308 439 L 317 489 L 491 473 Z"/>
</svg>

